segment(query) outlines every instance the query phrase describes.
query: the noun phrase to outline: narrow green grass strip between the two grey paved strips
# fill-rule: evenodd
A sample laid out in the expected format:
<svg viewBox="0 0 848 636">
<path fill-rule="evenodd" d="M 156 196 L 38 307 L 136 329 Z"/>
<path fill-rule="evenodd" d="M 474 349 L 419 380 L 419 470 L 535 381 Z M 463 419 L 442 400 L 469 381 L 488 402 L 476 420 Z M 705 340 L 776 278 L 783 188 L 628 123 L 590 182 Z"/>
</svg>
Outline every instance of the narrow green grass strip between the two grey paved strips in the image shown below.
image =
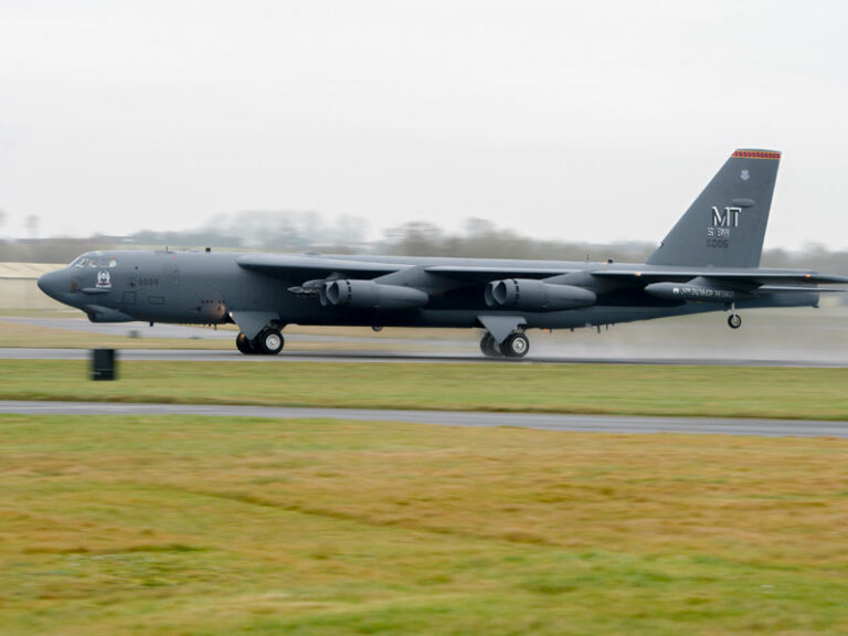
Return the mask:
<svg viewBox="0 0 848 636">
<path fill-rule="evenodd" d="M 0 361 L 0 399 L 848 420 L 848 369 Z"/>
</svg>

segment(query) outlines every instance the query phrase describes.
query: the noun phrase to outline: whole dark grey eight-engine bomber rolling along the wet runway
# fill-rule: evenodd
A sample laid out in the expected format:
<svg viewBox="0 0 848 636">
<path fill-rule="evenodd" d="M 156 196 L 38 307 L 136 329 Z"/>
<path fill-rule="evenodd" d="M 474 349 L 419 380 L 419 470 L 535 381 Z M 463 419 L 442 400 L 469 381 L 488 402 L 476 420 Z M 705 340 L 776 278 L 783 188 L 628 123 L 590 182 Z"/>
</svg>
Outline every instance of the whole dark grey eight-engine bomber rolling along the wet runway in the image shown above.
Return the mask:
<svg viewBox="0 0 848 636">
<path fill-rule="evenodd" d="M 93 322 L 234 322 L 242 353 L 279 353 L 286 325 L 485 329 L 488 357 L 522 358 L 527 330 L 706 311 L 816 307 L 848 278 L 761 268 L 781 153 L 736 150 L 645 264 L 89 252 L 39 287 Z"/>
</svg>

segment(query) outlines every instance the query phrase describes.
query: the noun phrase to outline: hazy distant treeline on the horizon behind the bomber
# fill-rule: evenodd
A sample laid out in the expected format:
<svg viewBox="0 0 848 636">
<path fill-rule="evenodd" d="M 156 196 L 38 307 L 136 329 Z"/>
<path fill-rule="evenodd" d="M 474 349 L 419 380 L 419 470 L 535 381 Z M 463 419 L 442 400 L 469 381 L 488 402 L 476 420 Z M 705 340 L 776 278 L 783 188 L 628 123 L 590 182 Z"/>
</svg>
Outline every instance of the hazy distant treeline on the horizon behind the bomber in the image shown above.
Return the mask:
<svg viewBox="0 0 848 636">
<path fill-rule="evenodd" d="M 386 231 L 372 243 L 362 241 L 365 223 L 343 218 L 326 225 L 315 214 L 272 215 L 245 213 L 215 227 L 184 232 L 142 231 L 128 236 L 44 239 L 0 242 L 0 261 L 19 263 L 68 263 L 83 252 L 117 248 L 262 250 L 299 253 L 317 251 L 336 254 L 396 254 L 402 256 L 465 256 L 492 258 L 540 258 L 558 261 L 604 261 L 642 263 L 656 248 L 653 243 L 610 244 L 540 241 L 502 230 L 483 220 L 469 220 L 459 233 L 449 233 L 426 223 L 406 223 Z M 799 251 L 765 250 L 764 267 L 810 268 L 848 274 L 848 252 L 831 252 L 810 245 Z"/>
</svg>

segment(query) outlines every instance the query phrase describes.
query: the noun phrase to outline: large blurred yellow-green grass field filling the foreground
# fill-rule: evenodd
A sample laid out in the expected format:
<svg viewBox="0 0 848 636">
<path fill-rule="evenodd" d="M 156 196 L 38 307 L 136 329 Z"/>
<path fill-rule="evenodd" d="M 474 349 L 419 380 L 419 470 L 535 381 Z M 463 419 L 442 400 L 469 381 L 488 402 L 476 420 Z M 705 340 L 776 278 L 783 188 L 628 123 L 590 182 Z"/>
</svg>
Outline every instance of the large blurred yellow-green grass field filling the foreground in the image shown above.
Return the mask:
<svg viewBox="0 0 848 636">
<path fill-rule="evenodd" d="M 845 634 L 848 442 L 0 416 L 0 633 Z"/>
</svg>

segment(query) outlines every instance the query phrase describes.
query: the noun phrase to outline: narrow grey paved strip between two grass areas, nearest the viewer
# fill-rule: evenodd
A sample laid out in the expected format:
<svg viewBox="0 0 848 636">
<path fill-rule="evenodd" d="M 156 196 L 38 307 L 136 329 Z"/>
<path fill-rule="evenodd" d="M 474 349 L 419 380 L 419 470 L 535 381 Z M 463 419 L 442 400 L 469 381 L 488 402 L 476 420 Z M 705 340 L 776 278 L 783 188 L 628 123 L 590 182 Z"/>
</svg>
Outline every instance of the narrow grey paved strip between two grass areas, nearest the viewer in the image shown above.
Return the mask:
<svg viewBox="0 0 848 636">
<path fill-rule="evenodd" d="M 215 417 L 329 418 L 410 422 L 443 426 L 519 426 L 583 433 L 686 433 L 763 437 L 848 438 L 848 422 L 795 420 L 723 420 L 700 417 L 632 417 L 538 413 L 455 411 L 381 411 L 371 409 L 288 409 L 201 404 L 127 404 L 115 402 L 0 401 L 0 413 L 26 415 L 205 415 Z"/>
</svg>

